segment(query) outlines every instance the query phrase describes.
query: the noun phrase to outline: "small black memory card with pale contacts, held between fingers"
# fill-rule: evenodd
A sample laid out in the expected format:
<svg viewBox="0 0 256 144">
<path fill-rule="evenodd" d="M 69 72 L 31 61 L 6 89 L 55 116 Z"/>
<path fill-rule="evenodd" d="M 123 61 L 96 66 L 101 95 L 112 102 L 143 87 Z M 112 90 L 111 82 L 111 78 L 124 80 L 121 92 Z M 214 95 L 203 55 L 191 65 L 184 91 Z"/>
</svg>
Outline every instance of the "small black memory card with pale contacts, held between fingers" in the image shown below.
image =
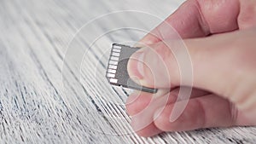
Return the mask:
<svg viewBox="0 0 256 144">
<path fill-rule="evenodd" d="M 123 44 L 113 43 L 111 54 L 108 60 L 106 77 L 110 84 L 122 86 L 129 89 L 137 89 L 149 93 L 156 93 L 157 89 L 136 84 L 131 80 L 127 72 L 127 63 L 130 56 L 139 48 L 130 47 Z"/>
</svg>

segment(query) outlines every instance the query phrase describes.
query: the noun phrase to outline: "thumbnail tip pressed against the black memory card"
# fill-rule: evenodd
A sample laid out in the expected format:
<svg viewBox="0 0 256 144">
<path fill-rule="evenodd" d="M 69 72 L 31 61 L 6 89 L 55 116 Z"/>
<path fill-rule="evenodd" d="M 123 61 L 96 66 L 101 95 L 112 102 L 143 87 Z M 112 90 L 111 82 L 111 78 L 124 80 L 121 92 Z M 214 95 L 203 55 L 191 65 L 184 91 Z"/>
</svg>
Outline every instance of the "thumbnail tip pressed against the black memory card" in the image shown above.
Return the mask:
<svg viewBox="0 0 256 144">
<path fill-rule="evenodd" d="M 131 55 L 129 61 L 127 70 L 132 79 L 137 78 L 138 80 L 143 79 L 144 76 L 144 52 L 136 52 L 133 55 Z"/>
</svg>

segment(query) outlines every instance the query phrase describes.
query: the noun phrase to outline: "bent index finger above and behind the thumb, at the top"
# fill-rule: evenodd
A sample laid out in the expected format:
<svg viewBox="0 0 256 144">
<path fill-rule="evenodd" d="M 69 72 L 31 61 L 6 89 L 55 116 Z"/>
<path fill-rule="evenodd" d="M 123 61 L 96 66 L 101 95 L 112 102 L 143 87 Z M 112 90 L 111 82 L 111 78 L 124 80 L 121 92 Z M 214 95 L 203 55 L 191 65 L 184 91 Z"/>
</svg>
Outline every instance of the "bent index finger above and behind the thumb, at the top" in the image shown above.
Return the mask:
<svg viewBox="0 0 256 144">
<path fill-rule="evenodd" d="M 243 11 L 240 17 L 246 19 L 243 15 L 247 15 L 247 10 Z M 170 26 L 183 38 L 205 37 L 212 33 L 234 31 L 239 28 L 236 22 L 239 12 L 238 0 L 189 0 L 143 37 L 139 43 L 148 45 L 176 37 L 175 32 L 170 32 Z M 250 15 L 254 18 L 254 14 Z M 241 26 L 246 25 L 247 22 L 250 21 L 245 21 Z"/>
</svg>

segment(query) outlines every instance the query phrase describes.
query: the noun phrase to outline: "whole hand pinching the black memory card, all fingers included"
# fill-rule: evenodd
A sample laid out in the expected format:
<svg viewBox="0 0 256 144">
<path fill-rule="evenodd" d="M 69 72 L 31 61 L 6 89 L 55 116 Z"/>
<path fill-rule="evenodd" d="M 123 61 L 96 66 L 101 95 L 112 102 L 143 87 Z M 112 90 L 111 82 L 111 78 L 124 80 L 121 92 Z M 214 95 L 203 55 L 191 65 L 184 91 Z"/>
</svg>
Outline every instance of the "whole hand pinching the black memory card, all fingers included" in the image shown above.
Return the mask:
<svg viewBox="0 0 256 144">
<path fill-rule="evenodd" d="M 138 84 L 171 88 L 171 92 L 158 96 L 135 92 L 129 96 L 126 109 L 138 135 L 147 137 L 164 131 L 256 125 L 255 15 L 255 0 L 188 0 L 166 19 L 188 48 L 193 85 L 180 84 L 177 60 L 162 42 L 172 39 L 172 32 L 168 33 L 160 24 L 143 37 L 140 41 L 143 48 L 128 62 L 129 75 L 137 78 Z M 143 64 L 138 70 L 137 58 L 141 54 L 144 54 Z M 167 75 L 160 72 L 156 64 L 165 64 Z M 157 78 L 156 83 L 154 78 Z M 182 115 L 170 122 L 178 90 L 183 86 L 193 87 L 192 95 Z M 165 105 L 151 108 L 150 112 L 143 111 L 151 107 L 152 101 L 158 103 L 163 97 L 166 97 Z M 143 117 L 143 112 L 147 117 Z M 139 128 L 145 121 L 150 123 Z"/>
</svg>

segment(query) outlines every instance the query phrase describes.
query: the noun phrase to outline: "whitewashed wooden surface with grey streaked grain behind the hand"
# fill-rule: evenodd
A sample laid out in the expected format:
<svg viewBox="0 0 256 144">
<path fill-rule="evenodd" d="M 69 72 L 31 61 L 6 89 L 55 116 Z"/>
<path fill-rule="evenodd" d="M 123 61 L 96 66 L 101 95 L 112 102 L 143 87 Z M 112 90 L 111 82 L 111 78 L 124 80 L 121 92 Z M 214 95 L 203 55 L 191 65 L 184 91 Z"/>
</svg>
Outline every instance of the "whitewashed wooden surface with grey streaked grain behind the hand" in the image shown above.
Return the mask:
<svg viewBox="0 0 256 144">
<path fill-rule="evenodd" d="M 111 43 L 137 41 L 145 33 L 123 29 L 89 45 L 111 26 L 150 30 L 160 20 L 147 21 L 141 13 L 113 14 L 81 27 L 118 10 L 139 10 L 164 19 L 180 3 L 0 1 L 0 143 L 255 143 L 254 127 L 152 138 L 132 132 L 124 106 L 129 90 L 111 87 L 104 73 Z"/>
</svg>

